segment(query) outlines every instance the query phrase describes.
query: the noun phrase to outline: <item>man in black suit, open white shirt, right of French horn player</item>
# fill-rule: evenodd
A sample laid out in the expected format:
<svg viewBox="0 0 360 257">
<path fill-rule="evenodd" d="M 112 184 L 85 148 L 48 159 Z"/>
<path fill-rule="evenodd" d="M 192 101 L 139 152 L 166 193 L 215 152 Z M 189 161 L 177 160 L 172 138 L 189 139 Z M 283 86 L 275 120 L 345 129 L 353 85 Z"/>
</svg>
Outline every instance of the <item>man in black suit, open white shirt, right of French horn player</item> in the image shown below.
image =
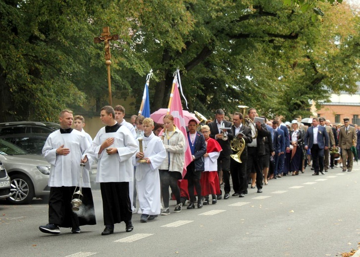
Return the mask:
<svg viewBox="0 0 360 257">
<path fill-rule="evenodd" d="M 257 117 L 257 111 L 255 108 L 248 110 L 249 118 L 254 122 Z M 267 136 L 267 129 L 265 123 L 260 124 L 257 122 L 255 125 L 251 124 L 252 136 L 256 140 L 253 140 L 248 144 L 248 161 L 246 162 L 246 172 L 250 181 L 250 176 L 253 181 L 256 181 L 257 193 L 262 193 L 262 159 L 265 156 L 265 144 L 264 137 Z M 254 183 L 254 182 L 253 182 Z"/>
</svg>

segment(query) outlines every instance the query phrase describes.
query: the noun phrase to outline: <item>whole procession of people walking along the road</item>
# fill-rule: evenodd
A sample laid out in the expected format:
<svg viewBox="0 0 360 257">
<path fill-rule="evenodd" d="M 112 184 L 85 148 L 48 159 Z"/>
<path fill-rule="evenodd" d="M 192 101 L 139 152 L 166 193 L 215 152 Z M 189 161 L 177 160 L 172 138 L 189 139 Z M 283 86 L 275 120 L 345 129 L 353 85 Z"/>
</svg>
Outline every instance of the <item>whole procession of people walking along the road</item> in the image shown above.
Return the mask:
<svg viewBox="0 0 360 257">
<path fill-rule="evenodd" d="M 188 210 L 203 208 L 210 204 L 210 195 L 211 204 L 216 204 L 230 195 L 246 197 L 255 188 L 262 193 L 270 180 L 299 175 L 307 166 L 312 175 L 339 165 L 350 172 L 358 158 L 355 147 L 360 154 L 360 130 L 350 125 L 349 118 L 339 127 L 324 117 L 313 118 L 309 126 L 296 119 L 284 124 L 259 117 L 250 108 L 247 114 L 245 110 L 232 114 L 230 122 L 218 109 L 213 121 L 204 121 L 206 125 L 191 119 L 184 134 L 172 115 L 164 116 L 162 124 L 134 115 L 129 123 L 124 116 L 121 105 L 104 106 L 100 118 L 105 127 L 93 141 L 83 129 L 82 116 L 74 118 L 69 110 L 60 113 L 61 128 L 50 134 L 43 149 L 51 164 L 51 192 L 49 223 L 39 227 L 42 232 L 59 234 L 59 227 L 70 227 L 72 233 L 80 233 L 81 225 L 96 224 L 90 178 L 80 163 L 89 169 L 98 161 L 102 235 L 109 235 L 121 222 L 131 232 L 132 214 L 141 214 L 140 222 L 146 223 L 160 214 L 180 213 L 186 204 Z M 187 146 L 191 160 L 184 167 Z M 84 189 L 80 212 L 71 203 L 77 187 Z M 176 201 L 171 211 L 170 199 Z"/>
</svg>

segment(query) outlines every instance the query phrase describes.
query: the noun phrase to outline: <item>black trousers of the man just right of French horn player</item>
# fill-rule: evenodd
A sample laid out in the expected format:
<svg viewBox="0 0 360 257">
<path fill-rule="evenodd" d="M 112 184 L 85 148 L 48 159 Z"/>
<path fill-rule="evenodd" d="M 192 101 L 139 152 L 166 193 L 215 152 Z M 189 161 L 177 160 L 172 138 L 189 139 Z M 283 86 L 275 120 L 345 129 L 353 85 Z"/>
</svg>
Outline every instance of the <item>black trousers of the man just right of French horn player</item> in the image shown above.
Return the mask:
<svg viewBox="0 0 360 257">
<path fill-rule="evenodd" d="M 257 155 L 257 147 L 248 146 L 248 160 L 246 162 L 246 173 L 248 177 L 248 182 L 250 181 L 250 174 L 256 172 L 256 186 L 257 189 L 262 188 L 262 158 L 264 156 Z M 247 182 L 247 183 L 248 183 Z"/>
</svg>

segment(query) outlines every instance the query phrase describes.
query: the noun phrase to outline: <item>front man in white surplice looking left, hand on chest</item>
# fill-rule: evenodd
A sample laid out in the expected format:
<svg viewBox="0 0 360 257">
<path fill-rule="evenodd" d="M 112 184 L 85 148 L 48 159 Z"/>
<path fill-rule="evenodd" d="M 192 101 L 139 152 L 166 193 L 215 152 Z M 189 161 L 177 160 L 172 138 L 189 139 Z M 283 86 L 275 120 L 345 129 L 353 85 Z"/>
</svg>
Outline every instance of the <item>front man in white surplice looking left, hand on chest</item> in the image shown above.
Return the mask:
<svg viewBox="0 0 360 257">
<path fill-rule="evenodd" d="M 103 199 L 103 218 L 105 229 L 102 235 L 114 232 L 114 224 L 124 221 L 126 232 L 134 229 L 129 197 L 129 182 L 133 181 L 131 157 L 138 145 L 125 126 L 115 120 L 111 106 L 101 109 L 100 119 L 106 125 L 94 138 L 91 153 L 98 161 L 96 182 L 100 183 Z"/>
</svg>

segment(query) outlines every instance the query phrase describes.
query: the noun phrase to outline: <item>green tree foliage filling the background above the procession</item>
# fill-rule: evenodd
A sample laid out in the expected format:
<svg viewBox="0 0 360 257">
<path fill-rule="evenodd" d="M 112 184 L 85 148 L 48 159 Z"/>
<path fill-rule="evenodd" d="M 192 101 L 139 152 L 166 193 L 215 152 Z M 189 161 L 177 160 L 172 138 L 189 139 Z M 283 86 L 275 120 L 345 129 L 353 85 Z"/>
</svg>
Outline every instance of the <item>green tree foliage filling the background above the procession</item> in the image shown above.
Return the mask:
<svg viewBox="0 0 360 257">
<path fill-rule="evenodd" d="M 359 24 L 325 0 L 0 1 L 0 120 L 98 112 L 107 73 L 94 37 L 106 26 L 120 38 L 110 42 L 113 96 L 136 107 L 150 69 L 151 110 L 167 107 L 179 68 L 190 111 L 306 116 L 310 99 L 356 91 Z"/>
</svg>

